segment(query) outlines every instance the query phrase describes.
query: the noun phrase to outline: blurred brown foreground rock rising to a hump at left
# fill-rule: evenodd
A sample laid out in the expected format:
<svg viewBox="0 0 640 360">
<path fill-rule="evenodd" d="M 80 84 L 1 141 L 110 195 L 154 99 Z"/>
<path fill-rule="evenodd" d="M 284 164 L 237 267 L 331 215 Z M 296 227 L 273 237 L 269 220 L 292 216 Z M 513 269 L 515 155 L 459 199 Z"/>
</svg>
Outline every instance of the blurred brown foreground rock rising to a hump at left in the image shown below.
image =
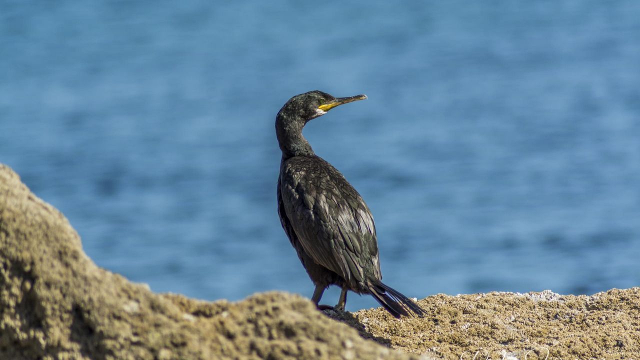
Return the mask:
<svg viewBox="0 0 640 360">
<path fill-rule="evenodd" d="M 0 165 L 0 359 L 417 359 L 307 299 L 159 295 L 96 266 L 67 219 Z"/>
</svg>

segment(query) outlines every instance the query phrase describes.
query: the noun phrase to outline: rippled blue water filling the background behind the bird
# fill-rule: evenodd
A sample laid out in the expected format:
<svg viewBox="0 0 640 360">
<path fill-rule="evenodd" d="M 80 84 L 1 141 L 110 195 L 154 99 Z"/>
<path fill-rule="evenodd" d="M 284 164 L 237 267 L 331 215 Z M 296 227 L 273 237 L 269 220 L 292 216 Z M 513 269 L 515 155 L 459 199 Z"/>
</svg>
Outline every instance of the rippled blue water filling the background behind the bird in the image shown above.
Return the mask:
<svg viewBox="0 0 640 360">
<path fill-rule="evenodd" d="M 305 136 L 367 200 L 385 282 L 628 288 L 639 39 L 636 1 L 2 1 L 0 161 L 154 291 L 310 296 L 276 215 L 275 114 L 367 94 Z"/>
</svg>

